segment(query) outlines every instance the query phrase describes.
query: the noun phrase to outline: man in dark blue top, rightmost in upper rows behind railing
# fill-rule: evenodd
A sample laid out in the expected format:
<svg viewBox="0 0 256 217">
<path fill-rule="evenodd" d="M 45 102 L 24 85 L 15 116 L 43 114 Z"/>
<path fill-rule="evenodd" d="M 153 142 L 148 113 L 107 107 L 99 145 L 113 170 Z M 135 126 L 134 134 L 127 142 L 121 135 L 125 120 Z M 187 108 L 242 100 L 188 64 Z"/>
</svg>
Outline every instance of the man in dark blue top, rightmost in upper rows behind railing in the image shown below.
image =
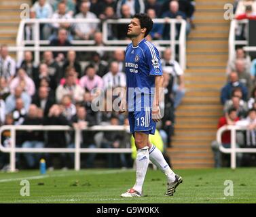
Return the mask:
<svg viewBox="0 0 256 217">
<path fill-rule="evenodd" d="M 162 14 L 162 18 L 187 20 L 186 14 L 179 10 L 179 3 L 177 1 L 170 1 L 169 10 L 167 12 L 164 12 L 164 14 Z M 175 39 L 179 38 L 180 28 L 181 28 L 181 24 L 176 24 Z M 189 34 L 189 32 L 190 32 L 190 24 L 189 22 L 187 22 L 186 24 L 187 35 Z M 164 26 L 163 39 L 170 40 L 170 24 L 166 24 Z"/>
</svg>

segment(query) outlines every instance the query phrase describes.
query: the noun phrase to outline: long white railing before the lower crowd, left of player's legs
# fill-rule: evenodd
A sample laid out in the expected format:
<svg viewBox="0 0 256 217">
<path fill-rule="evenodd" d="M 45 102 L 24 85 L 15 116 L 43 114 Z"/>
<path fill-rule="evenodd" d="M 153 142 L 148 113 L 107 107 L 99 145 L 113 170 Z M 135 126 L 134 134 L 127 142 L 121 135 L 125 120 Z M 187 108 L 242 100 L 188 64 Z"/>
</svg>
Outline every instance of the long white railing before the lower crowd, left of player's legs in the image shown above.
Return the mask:
<svg viewBox="0 0 256 217">
<path fill-rule="evenodd" d="M 10 130 L 10 147 L 4 147 L 1 141 L 1 134 L 5 130 Z M 16 148 L 16 131 L 75 131 L 75 148 Z M 124 125 L 94 125 L 85 127 L 83 130 L 88 131 L 119 131 L 129 132 L 129 127 Z M 80 170 L 81 153 L 132 153 L 132 149 L 88 149 L 81 148 L 81 130 L 73 129 L 63 125 L 3 125 L 0 127 L 0 151 L 10 153 L 10 171 L 16 170 L 16 153 L 75 153 L 75 170 Z"/>
</svg>

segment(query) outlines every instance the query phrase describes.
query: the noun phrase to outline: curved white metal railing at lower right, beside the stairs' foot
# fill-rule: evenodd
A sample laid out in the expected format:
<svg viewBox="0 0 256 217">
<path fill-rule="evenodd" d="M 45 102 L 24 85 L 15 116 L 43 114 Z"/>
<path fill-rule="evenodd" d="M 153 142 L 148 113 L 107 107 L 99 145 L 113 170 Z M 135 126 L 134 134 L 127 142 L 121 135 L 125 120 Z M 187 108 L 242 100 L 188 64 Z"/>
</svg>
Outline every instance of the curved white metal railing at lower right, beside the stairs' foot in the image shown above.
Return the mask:
<svg viewBox="0 0 256 217">
<path fill-rule="evenodd" d="M 231 144 L 230 149 L 224 148 L 221 142 L 221 135 L 223 132 L 229 130 L 231 132 Z M 219 151 L 222 153 L 229 153 L 231 155 L 231 168 L 236 169 L 236 153 L 256 153 L 256 149 L 251 148 L 237 148 L 236 147 L 236 131 L 247 130 L 246 127 L 240 127 L 236 125 L 225 125 L 220 127 L 217 131 L 217 142 L 219 144 Z"/>
</svg>

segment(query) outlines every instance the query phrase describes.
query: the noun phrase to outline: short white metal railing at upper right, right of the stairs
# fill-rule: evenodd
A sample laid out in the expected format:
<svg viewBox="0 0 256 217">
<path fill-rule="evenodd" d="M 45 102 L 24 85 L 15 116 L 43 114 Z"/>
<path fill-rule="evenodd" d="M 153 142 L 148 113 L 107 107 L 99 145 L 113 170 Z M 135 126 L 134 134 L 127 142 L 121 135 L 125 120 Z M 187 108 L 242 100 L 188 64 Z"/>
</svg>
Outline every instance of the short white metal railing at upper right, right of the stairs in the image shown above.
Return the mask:
<svg viewBox="0 0 256 217">
<path fill-rule="evenodd" d="M 230 35 L 228 39 L 229 46 L 229 60 L 232 60 L 236 54 L 236 45 L 248 45 L 248 41 L 246 40 L 236 40 L 236 28 L 239 24 L 248 23 L 248 20 L 232 20 L 230 22 Z"/>
</svg>

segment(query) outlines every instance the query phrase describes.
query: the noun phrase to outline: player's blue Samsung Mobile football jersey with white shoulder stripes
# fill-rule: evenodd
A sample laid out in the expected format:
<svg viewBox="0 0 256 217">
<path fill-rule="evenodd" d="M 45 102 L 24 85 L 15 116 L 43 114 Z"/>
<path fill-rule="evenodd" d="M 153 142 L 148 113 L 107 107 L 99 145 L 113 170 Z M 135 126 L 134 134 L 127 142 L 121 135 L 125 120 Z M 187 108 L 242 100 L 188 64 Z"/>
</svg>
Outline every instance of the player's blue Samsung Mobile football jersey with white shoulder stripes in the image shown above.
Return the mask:
<svg viewBox="0 0 256 217">
<path fill-rule="evenodd" d="M 136 47 L 130 43 L 126 48 L 125 71 L 128 111 L 151 107 L 155 76 L 162 75 L 161 60 L 156 47 L 145 39 Z"/>
</svg>

